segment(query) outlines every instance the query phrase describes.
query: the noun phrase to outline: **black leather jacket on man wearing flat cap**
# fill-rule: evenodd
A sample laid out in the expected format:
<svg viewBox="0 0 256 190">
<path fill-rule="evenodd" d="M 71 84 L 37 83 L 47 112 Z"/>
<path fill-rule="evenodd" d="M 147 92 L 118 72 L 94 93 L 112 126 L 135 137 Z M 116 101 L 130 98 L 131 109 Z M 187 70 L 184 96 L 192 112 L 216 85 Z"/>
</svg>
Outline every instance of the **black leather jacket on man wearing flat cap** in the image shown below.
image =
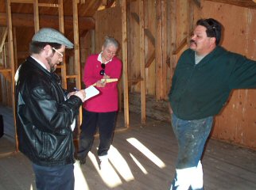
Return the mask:
<svg viewBox="0 0 256 190">
<path fill-rule="evenodd" d="M 16 82 L 18 148 L 37 165 L 74 163 L 71 124 L 79 113 L 79 97 L 67 98 L 56 74 L 33 58 L 21 65 Z"/>
</svg>

